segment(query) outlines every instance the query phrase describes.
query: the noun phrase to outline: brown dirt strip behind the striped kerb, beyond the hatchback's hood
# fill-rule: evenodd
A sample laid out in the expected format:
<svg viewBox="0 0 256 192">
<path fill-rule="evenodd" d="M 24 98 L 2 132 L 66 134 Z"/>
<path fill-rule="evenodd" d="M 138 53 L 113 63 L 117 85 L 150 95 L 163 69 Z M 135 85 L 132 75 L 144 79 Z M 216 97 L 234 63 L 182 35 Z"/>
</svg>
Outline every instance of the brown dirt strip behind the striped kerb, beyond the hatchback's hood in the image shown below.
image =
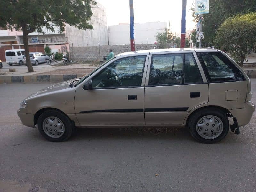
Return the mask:
<svg viewBox="0 0 256 192">
<path fill-rule="evenodd" d="M 89 74 L 95 68 L 87 68 L 87 69 L 56 69 L 54 71 L 47 71 L 43 73 L 38 73 L 37 75 L 71 75 L 71 74 Z"/>
</svg>

